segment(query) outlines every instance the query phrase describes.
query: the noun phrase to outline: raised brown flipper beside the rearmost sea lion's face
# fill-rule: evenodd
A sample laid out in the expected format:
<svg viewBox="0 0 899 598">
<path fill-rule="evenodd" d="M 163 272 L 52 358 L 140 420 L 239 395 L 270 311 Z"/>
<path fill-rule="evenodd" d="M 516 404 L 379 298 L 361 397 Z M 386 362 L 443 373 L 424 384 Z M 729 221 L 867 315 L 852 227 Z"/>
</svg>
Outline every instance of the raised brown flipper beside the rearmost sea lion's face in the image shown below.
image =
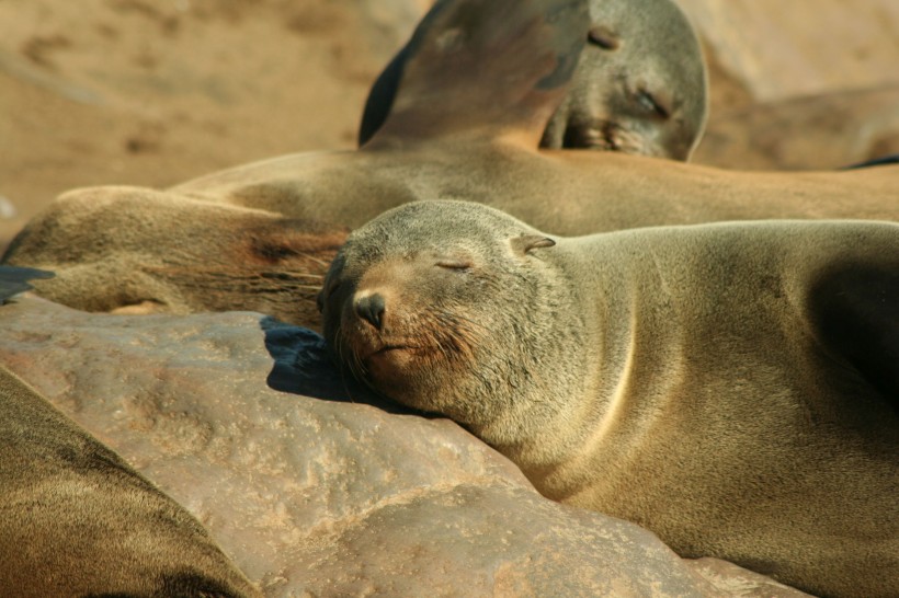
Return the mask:
<svg viewBox="0 0 899 598">
<path fill-rule="evenodd" d="M 361 140 L 514 131 L 536 148 L 589 26 L 585 0 L 439 0 L 375 83 Z"/>
</svg>

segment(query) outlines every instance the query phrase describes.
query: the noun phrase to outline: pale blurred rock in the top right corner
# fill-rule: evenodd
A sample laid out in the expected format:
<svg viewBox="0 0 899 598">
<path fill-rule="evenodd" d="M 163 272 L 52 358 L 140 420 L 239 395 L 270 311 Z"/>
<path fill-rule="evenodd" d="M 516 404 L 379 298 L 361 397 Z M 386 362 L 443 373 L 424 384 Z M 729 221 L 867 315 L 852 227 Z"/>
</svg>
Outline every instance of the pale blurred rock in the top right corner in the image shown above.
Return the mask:
<svg viewBox="0 0 899 598">
<path fill-rule="evenodd" d="M 756 101 L 899 83 L 896 0 L 678 2 Z"/>
</svg>

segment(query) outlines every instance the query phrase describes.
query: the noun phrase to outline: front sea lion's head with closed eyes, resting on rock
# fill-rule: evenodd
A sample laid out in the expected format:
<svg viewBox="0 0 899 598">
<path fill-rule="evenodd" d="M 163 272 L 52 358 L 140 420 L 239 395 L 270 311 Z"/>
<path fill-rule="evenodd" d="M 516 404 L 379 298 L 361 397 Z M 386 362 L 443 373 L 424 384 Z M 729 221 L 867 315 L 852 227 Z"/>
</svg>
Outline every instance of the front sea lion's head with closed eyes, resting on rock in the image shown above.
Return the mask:
<svg viewBox="0 0 899 598">
<path fill-rule="evenodd" d="M 383 214 L 350 234 L 319 297 L 334 359 L 376 392 L 476 430 L 557 392 L 540 375 L 564 350 L 554 314 L 570 301 L 554 245 L 467 202 Z"/>
</svg>

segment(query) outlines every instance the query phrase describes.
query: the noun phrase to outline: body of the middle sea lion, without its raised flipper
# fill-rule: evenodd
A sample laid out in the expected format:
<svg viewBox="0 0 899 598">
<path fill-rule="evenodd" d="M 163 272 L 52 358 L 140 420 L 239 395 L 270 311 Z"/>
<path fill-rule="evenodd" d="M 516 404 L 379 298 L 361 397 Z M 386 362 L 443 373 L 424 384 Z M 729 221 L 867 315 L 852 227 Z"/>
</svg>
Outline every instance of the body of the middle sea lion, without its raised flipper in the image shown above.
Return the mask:
<svg viewBox="0 0 899 598">
<path fill-rule="evenodd" d="M 77 309 L 259 310 L 318 329 L 315 296 L 346 232 L 422 197 L 480 200 L 573 235 L 719 220 L 899 221 L 897 188 L 899 165 L 751 173 L 535 152 L 502 139 L 366 147 L 250 164 L 168 192 L 70 192 L 25 226 L 2 263 L 56 272 L 37 292 Z"/>
</svg>

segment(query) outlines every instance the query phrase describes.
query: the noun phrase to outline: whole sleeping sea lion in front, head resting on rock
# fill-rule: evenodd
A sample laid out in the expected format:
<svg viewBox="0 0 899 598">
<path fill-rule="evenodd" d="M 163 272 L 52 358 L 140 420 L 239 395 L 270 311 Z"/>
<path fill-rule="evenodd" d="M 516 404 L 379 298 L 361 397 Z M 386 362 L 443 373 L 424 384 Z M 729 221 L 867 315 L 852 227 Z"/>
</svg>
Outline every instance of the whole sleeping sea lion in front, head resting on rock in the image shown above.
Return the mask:
<svg viewBox="0 0 899 598">
<path fill-rule="evenodd" d="M 581 238 L 422 202 L 352 232 L 335 360 L 543 494 L 813 594 L 899 587 L 899 225 Z"/>
</svg>

